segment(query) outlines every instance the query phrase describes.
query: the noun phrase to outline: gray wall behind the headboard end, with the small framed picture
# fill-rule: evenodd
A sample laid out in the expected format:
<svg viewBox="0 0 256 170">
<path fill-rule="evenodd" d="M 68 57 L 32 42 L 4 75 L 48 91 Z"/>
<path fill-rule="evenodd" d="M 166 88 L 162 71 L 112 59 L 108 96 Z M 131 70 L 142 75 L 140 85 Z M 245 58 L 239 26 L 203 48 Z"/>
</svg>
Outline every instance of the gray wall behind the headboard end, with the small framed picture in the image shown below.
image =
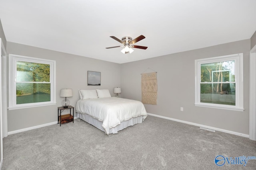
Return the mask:
<svg viewBox="0 0 256 170">
<path fill-rule="evenodd" d="M 62 88 L 73 89 L 73 97 L 68 99 L 75 107 L 79 100 L 78 89 L 109 89 L 114 96 L 114 87 L 120 87 L 120 64 L 11 42 L 7 42 L 7 53 L 55 60 L 57 102 L 53 106 L 9 110 L 8 132 L 57 121 L 57 107 L 64 99 L 59 97 Z M 101 86 L 87 86 L 88 70 L 101 72 Z"/>
</svg>

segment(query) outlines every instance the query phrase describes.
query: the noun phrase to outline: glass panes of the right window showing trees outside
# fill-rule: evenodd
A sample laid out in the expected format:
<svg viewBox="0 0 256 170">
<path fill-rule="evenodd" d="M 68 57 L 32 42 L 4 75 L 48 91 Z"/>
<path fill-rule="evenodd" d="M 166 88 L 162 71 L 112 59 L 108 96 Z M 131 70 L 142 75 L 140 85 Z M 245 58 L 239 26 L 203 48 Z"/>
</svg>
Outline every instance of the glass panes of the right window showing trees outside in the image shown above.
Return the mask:
<svg viewBox="0 0 256 170">
<path fill-rule="evenodd" d="M 235 105 L 235 61 L 201 64 L 200 102 Z"/>
</svg>

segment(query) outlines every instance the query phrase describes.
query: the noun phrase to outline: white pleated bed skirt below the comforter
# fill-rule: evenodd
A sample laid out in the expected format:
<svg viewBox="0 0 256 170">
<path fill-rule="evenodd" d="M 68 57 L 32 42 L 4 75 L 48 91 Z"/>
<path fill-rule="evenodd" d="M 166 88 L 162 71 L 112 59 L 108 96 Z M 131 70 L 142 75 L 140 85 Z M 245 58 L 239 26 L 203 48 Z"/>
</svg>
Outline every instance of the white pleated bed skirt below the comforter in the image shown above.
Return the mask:
<svg viewBox="0 0 256 170">
<path fill-rule="evenodd" d="M 98 129 L 105 131 L 105 129 L 102 127 L 102 121 L 98 121 L 97 119 L 94 119 L 86 114 L 82 114 L 82 113 L 76 113 L 76 117 L 80 118 L 84 121 L 86 121 L 87 123 L 90 123 L 91 125 L 97 127 Z M 134 117 L 132 119 L 126 120 L 126 121 L 122 121 L 120 123 L 120 125 L 117 125 L 116 127 L 112 127 L 111 129 L 109 129 L 109 133 L 117 133 L 118 131 L 128 127 L 128 126 L 133 126 L 137 123 L 142 123 L 142 117 L 143 116 L 138 116 L 138 117 Z"/>
</svg>

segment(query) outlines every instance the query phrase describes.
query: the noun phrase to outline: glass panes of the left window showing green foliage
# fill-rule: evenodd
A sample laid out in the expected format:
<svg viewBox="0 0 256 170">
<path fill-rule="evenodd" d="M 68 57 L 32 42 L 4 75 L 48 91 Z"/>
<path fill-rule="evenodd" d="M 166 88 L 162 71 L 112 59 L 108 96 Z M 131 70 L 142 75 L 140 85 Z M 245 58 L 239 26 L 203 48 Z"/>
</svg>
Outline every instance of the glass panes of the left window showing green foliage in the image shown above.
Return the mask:
<svg viewBox="0 0 256 170">
<path fill-rule="evenodd" d="M 50 101 L 50 64 L 17 61 L 16 104 Z"/>
</svg>

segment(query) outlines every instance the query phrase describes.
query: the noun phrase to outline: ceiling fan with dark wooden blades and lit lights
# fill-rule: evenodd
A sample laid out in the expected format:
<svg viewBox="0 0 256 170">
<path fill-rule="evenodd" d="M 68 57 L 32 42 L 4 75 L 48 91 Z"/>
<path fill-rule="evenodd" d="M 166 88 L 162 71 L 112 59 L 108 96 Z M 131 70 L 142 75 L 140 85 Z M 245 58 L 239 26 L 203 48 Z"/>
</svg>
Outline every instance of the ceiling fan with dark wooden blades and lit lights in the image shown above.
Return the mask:
<svg viewBox="0 0 256 170">
<path fill-rule="evenodd" d="M 116 47 L 124 47 L 121 52 L 126 54 L 126 53 L 132 53 L 134 50 L 132 48 L 137 48 L 137 49 L 147 49 L 148 47 L 145 46 L 140 46 L 140 45 L 134 45 L 134 43 L 146 38 L 143 35 L 138 36 L 136 39 L 132 39 L 132 37 L 122 37 L 122 40 L 114 37 L 114 36 L 110 36 L 112 39 L 115 39 L 116 41 L 122 43 L 123 45 L 120 46 L 115 46 L 115 47 L 107 47 L 106 49 L 112 49 L 112 48 L 116 48 Z"/>
</svg>

